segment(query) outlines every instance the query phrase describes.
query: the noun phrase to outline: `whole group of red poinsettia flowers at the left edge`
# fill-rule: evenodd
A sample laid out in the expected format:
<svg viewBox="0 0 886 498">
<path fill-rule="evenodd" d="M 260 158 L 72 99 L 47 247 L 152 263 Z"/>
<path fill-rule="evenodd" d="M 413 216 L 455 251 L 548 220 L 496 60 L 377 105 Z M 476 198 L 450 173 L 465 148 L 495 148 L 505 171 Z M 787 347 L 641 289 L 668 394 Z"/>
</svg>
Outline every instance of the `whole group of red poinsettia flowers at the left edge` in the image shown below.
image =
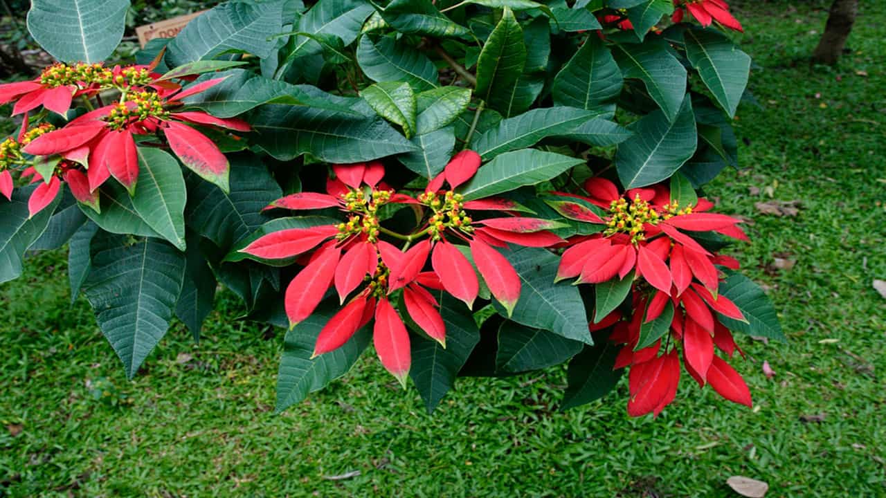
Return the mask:
<svg viewBox="0 0 886 498">
<path fill-rule="evenodd" d="M 0 103 L 17 100 L 14 113 L 25 113 L 17 140 L 9 138 L 0 150 L 0 192 L 12 194 L 12 170 L 30 172 L 46 187 L 38 188 L 29 202 L 31 216 L 48 206 L 62 183 L 68 183 L 74 196 L 98 210 L 97 189 L 112 177 L 134 194 L 138 178 L 135 136 L 156 136 L 162 132 L 168 147 L 186 167 L 207 180 L 228 189 L 228 160 L 217 145 L 185 123 L 249 131 L 245 121 L 222 120 L 196 111 L 183 110 L 183 99 L 213 87 L 222 78 L 200 82 L 188 89 L 160 79 L 151 66 L 58 64 L 43 71 L 31 82 L 0 85 Z M 41 124 L 27 129 L 28 112 L 40 105 L 66 116 L 74 97 L 89 97 L 101 91 L 119 92 L 111 105 L 82 114 L 64 127 Z M 46 111 L 36 114 L 36 121 Z M 53 167 L 55 165 L 55 167 Z M 51 196 L 51 197 L 49 197 Z"/>
</svg>

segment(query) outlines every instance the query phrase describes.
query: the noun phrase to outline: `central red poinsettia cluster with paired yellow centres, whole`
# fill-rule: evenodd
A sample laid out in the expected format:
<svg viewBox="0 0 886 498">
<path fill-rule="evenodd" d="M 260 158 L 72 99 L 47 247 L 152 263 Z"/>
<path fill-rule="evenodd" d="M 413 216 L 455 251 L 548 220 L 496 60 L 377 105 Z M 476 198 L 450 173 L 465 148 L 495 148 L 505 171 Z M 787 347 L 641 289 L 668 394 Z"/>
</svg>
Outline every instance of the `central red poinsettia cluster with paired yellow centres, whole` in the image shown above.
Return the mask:
<svg viewBox="0 0 886 498">
<path fill-rule="evenodd" d="M 373 341 L 379 359 L 385 369 L 405 382 L 411 362 L 409 336 L 395 303 L 402 303 L 428 337 L 446 346 L 446 326 L 432 292 L 445 291 L 472 307 L 479 292 L 479 273 L 495 300 L 511 313 L 520 296 L 520 277 L 494 246 L 563 243 L 547 230 L 556 226 L 552 222 L 519 216 L 475 221 L 468 214 L 470 210 L 507 212 L 516 206 L 508 199 L 465 201 L 455 191 L 441 190 L 444 184 L 455 189 L 467 182 L 479 165 L 476 152 L 460 152 L 417 198 L 387 187 L 380 163 L 335 165 L 332 171 L 336 177 L 327 182 L 326 194 L 296 193 L 268 208 L 337 207 L 346 214 L 346 222 L 276 231 L 253 241 L 242 252 L 268 260 L 302 257 L 305 268 L 292 279 L 285 295 L 292 326 L 314 313 L 330 286 L 335 286 L 341 303 L 347 301 L 320 331 L 315 355 L 343 346 L 374 317 Z M 424 224 L 408 235 L 385 229 L 378 210 L 389 203 L 415 206 Z M 405 244 L 398 248 L 382 237 Z M 459 240 L 468 247 L 457 245 Z M 429 258 L 431 269 L 427 270 Z M 393 299 L 394 292 L 402 292 L 402 299 Z"/>
</svg>

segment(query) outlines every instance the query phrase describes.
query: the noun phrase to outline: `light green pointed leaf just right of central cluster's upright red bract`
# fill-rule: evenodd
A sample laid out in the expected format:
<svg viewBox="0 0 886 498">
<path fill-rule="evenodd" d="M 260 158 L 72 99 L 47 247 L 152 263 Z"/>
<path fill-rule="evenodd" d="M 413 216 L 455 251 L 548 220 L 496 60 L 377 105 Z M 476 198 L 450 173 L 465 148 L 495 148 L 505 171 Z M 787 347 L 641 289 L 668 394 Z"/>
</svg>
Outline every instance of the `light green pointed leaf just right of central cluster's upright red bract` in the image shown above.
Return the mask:
<svg viewBox="0 0 886 498">
<path fill-rule="evenodd" d="M 486 198 L 523 185 L 547 182 L 584 160 L 535 149 L 505 152 L 480 167 L 460 189 L 464 198 Z"/>
</svg>

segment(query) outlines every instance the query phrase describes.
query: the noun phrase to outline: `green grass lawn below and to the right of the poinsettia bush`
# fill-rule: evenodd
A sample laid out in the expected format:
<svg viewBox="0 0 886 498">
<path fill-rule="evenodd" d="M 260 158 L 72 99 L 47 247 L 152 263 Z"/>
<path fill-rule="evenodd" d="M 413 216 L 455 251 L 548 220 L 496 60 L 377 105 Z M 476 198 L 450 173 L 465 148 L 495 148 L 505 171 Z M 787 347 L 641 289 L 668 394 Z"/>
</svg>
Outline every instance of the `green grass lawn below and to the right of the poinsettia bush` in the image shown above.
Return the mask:
<svg viewBox="0 0 886 498">
<path fill-rule="evenodd" d="M 657 419 L 626 416 L 625 385 L 559 413 L 555 369 L 463 379 L 428 416 L 366 354 L 276 416 L 282 333 L 235 321 L 229 295 L 198 346 L 176 324 L 128 382 L 88 304 L 69 305 L 64 254 L 45 253 L 0 287 L 0 495 L 731 496 L 736 474 L 770 496 L 886 495 L 886 300 L 871 286 L 886 279 L 886 9 L 862 2 L 851 53 L 810 68 L 825 12 L 797 4 L 740 11 L 762 107 L 736 122 L 744 169 L 708 189 L 753 220 L 736 255 L 790 339 L 739 338 L 754 409 L 684 379 Z M 759 214 L 766 187 L 797 217 Z"/>
</svg>

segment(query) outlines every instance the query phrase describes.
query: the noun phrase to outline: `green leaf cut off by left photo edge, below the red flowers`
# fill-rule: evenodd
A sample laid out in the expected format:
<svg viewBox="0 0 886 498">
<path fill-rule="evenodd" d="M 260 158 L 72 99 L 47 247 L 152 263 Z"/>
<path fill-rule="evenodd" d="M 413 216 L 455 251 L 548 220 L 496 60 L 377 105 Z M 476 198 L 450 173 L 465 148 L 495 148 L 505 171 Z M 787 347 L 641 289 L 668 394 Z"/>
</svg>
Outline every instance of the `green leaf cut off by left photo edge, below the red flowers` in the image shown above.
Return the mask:
<svg viewBox="0 0 886 498">
<path fill-rule="evenodd" d="M 0 284 L 9 282 L 21 275 L 25 251 L 43 235 L 50 223 L 52 213 L 61 201 L 57 195 L 49 206 L 28 217 L 27 199 L 36 186 L 31 185 L 12 192 L 12 200 L 0 201 Z"/>
</svg>

